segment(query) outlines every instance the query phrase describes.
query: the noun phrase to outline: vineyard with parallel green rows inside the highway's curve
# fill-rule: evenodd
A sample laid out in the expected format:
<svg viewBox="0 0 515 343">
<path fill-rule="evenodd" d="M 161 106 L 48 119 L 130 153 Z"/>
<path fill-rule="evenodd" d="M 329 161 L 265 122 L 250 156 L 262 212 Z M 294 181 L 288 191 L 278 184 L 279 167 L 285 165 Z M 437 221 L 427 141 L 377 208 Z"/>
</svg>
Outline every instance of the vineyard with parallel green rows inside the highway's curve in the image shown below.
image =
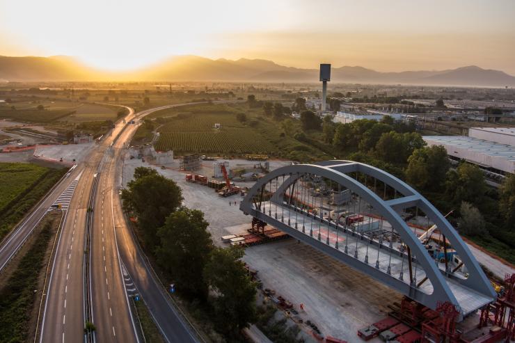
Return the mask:
<svg viewBox="0 0 515 343">
<path fill-rule="evenodd" d="M 214 128 L 220 123 L 221 128 Z M 276 150 L 255 129 L 235 119 L 235 114 L 179 115 L 160 129 L 157 150 L 205 153 L 268 153 Z"/>
</svg>

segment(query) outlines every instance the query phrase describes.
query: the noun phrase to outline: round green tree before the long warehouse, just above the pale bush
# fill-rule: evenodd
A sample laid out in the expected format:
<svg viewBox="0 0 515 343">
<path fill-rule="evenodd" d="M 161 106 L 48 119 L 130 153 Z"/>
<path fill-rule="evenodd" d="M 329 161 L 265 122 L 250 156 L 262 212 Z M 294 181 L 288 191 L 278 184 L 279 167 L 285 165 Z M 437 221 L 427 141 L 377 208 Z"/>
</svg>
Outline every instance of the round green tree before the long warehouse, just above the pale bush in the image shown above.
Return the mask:
<svg viewBox="0 0 515 343">
<path fill-rule="evenodd" d="M 456 170 L 449 170 L 445 180 L 445 193 L 447 199 L 454 206 L 461 206 L 461 202 L 469 202 L 475 207 L 482 208 L 486 182 L 478 166 L 462 162 Z"/>
</svg>

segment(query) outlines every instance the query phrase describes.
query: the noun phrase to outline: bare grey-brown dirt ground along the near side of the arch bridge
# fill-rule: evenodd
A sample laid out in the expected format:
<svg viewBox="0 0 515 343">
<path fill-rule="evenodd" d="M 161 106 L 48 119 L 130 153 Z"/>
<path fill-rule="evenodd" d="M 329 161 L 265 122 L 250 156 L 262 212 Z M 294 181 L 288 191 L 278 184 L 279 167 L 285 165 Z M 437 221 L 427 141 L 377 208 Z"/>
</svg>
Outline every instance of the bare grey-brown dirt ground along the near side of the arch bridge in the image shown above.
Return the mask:
<svg viewBox="0 0 515 343">
<path fill-rule="evenodd" d="M 356 331 L 386 317 L 387 305 L 401 299 L 392 289 L 294 239 L 248 247 L 244 260 L 258 270 L 264 288 L 294 304 L 304 322 L 315 323 L 324 336 L 348 342 L 361 342 Z M 310 330 L 305 324 L 301 328 Z"/>
</svg>

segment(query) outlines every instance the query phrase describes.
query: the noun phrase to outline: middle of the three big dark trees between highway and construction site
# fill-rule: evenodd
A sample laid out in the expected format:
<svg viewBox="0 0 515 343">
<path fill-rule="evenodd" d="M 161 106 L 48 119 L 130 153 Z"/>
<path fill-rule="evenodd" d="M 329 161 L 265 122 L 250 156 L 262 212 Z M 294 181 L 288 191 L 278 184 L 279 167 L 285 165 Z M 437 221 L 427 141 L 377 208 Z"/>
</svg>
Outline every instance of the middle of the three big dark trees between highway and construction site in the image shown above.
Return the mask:
<svg viewBox="0 0 515 343">
<path fill-rule="evenodd" d="M 207 296 L 203 271 L 213 249 L 207 226 L 202 211 L 182 208 L 168 216 L 165 225 L 157 230 L 157 262 L 187 296 Z"/>
</svg>

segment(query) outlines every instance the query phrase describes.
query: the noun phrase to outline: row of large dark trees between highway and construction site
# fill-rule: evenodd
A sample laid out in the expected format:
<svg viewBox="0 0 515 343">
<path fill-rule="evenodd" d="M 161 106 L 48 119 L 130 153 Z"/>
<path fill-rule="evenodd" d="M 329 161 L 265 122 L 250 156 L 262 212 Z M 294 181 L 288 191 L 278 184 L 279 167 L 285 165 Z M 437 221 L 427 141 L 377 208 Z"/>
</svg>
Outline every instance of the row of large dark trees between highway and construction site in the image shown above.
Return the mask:
<svg viewBox="0 0 515 343">
<path fill-rule="evenodd" d="M 181 205 L 182 191 L 152 168 L 138 167 L 122 191 L 123 206 L 138 218 L 137 232 L 177 293 L 205 305 L 227 337 L 255 321 L 256 286 L 241 248 L 215 248 L 203 212 Z"/>
</svg>

